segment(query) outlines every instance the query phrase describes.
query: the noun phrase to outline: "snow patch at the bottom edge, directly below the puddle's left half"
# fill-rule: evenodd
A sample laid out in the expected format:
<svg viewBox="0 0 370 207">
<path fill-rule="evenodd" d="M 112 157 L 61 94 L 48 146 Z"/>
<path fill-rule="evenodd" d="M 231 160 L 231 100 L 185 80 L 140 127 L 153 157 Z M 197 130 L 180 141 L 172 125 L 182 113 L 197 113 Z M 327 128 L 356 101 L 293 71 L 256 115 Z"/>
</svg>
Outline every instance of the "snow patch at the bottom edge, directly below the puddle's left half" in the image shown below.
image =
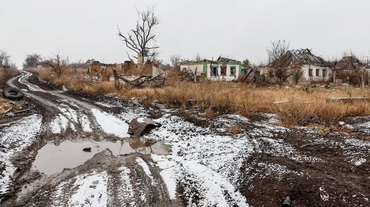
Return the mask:
<svg viewBox="0 0 370 207">
<path fill-rule="evenodd" d="M 60 183 L 52 194 L 52 206 L 107 206 L 107 180 L 107 171 L 85 173 L 68 179 Z"/>
</svg>

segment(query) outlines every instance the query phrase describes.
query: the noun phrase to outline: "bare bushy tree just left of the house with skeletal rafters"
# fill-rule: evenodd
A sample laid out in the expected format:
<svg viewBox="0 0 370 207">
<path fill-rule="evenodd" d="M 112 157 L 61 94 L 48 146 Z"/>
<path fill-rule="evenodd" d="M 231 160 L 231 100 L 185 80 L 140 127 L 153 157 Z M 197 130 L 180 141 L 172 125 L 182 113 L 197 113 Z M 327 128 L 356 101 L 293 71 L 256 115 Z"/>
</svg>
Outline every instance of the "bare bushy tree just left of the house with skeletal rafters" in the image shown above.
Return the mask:
<svg viewBox="0 0 370 207">
<path fill-rule="evenodd" d="M 303 74 L 303 63 L 292 61 L 292 56 L 288 53 L 289 46 L 289 42 L 279 39 L 271 42 L 270 48 L 266 49 L 269 66 L 272 67 L 271 75 L 277 78 L 277 84 L 280 86 L 284 85 L 290 76 L 296 75 L 297 78 L 297 74 Z"/>
</svg>

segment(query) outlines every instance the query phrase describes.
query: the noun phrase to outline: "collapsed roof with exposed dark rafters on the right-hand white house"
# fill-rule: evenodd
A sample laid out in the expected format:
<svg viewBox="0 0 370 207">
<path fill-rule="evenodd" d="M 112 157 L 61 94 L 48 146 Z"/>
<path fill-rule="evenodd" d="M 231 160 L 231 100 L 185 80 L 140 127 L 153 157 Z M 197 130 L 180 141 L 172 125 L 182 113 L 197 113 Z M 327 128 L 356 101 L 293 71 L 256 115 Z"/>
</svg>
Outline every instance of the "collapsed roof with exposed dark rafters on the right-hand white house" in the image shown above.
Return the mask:
<svg viewBox="0 0 370 207">
<path fill-rule="evenodd" d="M 286 52 L 284 58 L 285 61 L 288 61 L 290 64 L 304 63 L 315 66 L 330 66 L 330 64 L 321 57 L 313 55 L 310 49 L 289 50 Z"/>
</svg>

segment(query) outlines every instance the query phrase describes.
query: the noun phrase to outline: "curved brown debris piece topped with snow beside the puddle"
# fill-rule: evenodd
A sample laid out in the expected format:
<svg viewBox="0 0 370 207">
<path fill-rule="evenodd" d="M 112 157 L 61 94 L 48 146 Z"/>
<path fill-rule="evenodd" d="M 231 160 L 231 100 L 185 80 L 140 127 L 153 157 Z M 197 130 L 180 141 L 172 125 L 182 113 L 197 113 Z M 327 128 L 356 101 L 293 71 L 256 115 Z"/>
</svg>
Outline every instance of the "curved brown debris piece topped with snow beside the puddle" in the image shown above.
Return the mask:
<svg viewBox="0 0 370 207">
<path fill-rule="evenodd" d="M 155 122 L 147 117 L 140 116 L 131 120 L 127 133 L 139 137 L 143 131 L 149 131 L 155 127 L 160 127 L 162 124 Z"/>
</svg>

